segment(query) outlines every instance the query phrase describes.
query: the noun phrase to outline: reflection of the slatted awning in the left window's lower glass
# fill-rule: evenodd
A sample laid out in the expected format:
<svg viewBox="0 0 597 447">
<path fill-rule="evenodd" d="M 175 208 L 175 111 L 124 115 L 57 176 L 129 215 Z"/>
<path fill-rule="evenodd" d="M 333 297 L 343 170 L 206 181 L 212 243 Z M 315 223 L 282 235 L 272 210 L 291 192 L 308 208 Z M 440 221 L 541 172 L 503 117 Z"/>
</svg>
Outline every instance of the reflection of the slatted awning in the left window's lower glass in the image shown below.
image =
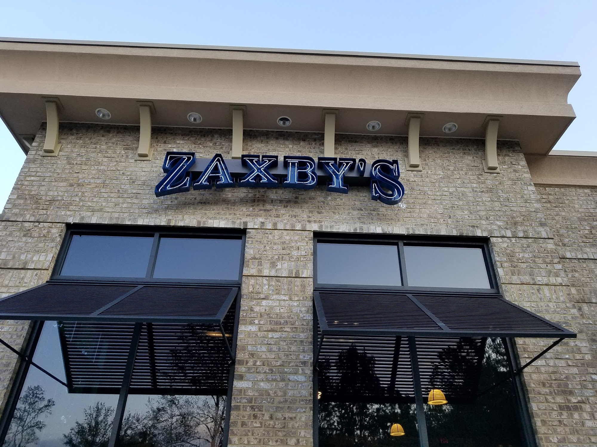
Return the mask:
<svg viewBox="0 0 597 447">
<path fill-rule="evenodd" d="M 229 315 L 227 337 L 233 333 L 233 312 Z M 70 393 L 119 393 L 133 328 L 133 323 L 59 323 Z M 221 337 L 216 325 L 143 324 L 129 393 L 226 394 L 230 356 Z"/>
</svg>

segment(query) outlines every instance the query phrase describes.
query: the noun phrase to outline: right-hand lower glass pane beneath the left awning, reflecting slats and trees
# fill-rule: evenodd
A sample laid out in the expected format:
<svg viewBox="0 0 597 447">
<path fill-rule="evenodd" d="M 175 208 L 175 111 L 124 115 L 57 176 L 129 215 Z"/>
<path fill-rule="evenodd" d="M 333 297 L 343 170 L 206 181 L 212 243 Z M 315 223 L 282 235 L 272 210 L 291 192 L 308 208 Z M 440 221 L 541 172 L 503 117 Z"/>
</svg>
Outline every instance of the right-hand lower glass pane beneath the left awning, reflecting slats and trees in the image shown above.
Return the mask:
<svg viewBox="0 0 597 447">
<path fill-rule="evenodd" d="M 144 325 L 119 446 L 221 445 L 229 377 L 222 338 L 205 325 Z"/>
</svg>

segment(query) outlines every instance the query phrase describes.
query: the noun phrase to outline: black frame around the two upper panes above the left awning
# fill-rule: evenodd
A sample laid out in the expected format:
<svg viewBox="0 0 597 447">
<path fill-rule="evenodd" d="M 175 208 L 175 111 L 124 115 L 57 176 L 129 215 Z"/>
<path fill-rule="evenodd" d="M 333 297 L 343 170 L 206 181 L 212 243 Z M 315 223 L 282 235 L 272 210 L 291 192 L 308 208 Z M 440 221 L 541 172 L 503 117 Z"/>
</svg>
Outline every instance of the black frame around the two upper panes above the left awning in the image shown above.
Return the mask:
<svg viewBox="0 0 597 447">
<path fill-rule="evenodd" d="M 66 255 L 69 252 L 70 243 L 73 235 L 90 235 L 90 236 L 132 236 L 132 237 L 153 237 L 152 248 L 147 260 L 147 270 L 144 277 L 96 277 L 96 276 L 73 276 L 61 275 L 60 271 L 63 268 Z M 158 259 L 159 240 L 162 237 L 189 237 L 197 239 L 233 239 L 241 241 L 241 253 L 239 259 L 238 277 L 234 280 L 202 280 L 193 278 L 153 278 L 153 270 Z M 201 229 L 197 231 L 190 231 L 189 229 L 174 229 L 163 227 L 147 227 L 147 226 L 89 226 L 89 225 L 73 225 L 66 229 L 63 243 L 56 258 L 56 264 L 51 280 L 65 280 L 65 281 L 109 281 L 109 282 L 125 282 L 125 283 L 177 283 L 177 284 L 241 284 L 242 269 L 245 258 L 245 232 L 241 231 L 214 231 L 213 229 Z"/>
</svg>

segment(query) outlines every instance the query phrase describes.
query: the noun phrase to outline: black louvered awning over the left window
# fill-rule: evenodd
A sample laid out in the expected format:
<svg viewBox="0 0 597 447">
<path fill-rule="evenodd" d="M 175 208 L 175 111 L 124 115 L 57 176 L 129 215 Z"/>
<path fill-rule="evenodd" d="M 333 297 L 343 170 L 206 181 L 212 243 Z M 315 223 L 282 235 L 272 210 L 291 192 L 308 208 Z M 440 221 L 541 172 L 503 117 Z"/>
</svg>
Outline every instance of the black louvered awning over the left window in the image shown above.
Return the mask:
<svg viewBox="0 0 597 447">
<path fill-rule="evenodd" d="M 0 319 L 220 324 L 237 285 L 48 281 L 0 300 Z"/>
</svg>

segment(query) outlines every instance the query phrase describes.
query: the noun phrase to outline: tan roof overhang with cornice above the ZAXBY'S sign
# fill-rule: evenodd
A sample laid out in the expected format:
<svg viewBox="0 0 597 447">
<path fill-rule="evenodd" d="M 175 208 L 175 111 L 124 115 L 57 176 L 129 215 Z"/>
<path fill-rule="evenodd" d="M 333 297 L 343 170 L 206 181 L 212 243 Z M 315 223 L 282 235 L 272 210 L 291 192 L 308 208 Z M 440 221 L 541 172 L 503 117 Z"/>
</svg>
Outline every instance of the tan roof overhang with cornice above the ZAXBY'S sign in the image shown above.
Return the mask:
<svg viewBox="0 0 597 447">
<path fill-rule="evenodd" d="M 137 101 L 152 101 L 154 126 L 231 128 L 230 105 L 247 106 L 246 129 L 407 135 L 407 113 L 424 113 L 421 136 L 498 138 L 547 154 L 574 119 L 574 62 L 290 49 L 0 39 L 0 115 L 14 135 L 36 134 L 44 97 L 59 98 L 63 122 L 139 125 Z M 110 110 L 101 120 L 96 108 Z M 203 116 L 191 125 L 187 113 Z M 276 119 L 293 123 L 280 128 Z M 380 131 L 367 122 L 378 120 Z"/>
</svg>

